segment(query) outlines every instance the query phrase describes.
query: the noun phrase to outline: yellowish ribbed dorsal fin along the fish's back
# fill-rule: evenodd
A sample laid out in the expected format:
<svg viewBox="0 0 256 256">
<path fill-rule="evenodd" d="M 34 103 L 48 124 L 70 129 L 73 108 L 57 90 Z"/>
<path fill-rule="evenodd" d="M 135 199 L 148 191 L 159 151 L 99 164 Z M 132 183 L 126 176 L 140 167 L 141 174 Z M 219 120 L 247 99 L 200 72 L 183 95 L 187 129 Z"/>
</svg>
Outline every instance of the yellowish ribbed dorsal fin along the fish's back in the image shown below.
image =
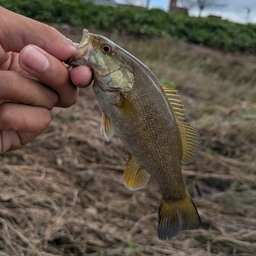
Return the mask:
<svg viewBox="0 0 256 256">
<path fill-rule="evenodd" d="M 198 153 L 201 144 L 199 133 L 186 122 L 184 105 L 181 104 L 182 100 L 177 93 L 178 91 L 165 85 L 162 85 L 161 89 L 180 131 L 182 142 L 181 162 L 189 163 L 194 160 Z"/>
</svg>

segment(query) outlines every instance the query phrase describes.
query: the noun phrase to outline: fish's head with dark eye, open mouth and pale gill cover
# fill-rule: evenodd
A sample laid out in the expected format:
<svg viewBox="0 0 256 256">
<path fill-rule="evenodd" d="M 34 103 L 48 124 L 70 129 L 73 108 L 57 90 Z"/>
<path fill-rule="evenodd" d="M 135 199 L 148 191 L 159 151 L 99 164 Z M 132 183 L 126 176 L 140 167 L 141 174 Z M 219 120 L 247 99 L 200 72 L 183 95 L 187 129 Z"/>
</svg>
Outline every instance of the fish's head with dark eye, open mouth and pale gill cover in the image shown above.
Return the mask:
<svg viewBox="0 0 256 256">
<path fill-rule="evenodd" d="M 106 91 L 129 91 L 134 84 L 133 69 L 119 47 L 108 38 L 89 33 L 86 29 L 68 64 L 90 67 L 94 79 Z"/>
</svg>

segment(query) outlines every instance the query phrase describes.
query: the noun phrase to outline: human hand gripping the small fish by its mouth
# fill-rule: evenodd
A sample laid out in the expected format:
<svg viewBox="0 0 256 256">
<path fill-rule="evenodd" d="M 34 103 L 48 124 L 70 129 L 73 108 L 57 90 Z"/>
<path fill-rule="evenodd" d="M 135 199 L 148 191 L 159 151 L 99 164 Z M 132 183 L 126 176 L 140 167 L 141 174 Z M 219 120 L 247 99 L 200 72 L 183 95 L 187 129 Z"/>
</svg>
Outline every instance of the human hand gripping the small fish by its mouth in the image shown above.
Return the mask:
<svg viewBox="0 0 256 256">
<path fill-rule="evenodd" d="M 42 133 L 54 106 L 76 102 L 75 85 L 89 84 L 91 72 L 69 74 L 62 61 L 74 52 L 57 30 L 0 7 L 0 154 Z"/>
</svg>

